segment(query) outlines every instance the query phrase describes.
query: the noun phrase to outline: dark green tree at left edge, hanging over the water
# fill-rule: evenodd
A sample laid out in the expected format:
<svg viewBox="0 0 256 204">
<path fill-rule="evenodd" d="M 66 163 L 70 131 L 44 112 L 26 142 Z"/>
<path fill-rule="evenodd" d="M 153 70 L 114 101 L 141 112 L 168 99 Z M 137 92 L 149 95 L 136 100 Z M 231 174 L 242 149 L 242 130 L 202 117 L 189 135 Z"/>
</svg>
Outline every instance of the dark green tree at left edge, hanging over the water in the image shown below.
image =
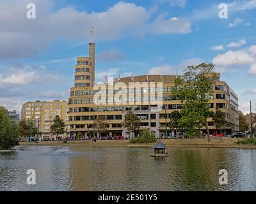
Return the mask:
<svg viewBox="0 0 256 204">
<path fill-rule="evenodd" d="M 15 145 L 19 145 L 17 125 L 10 121 L 7 110 L 0 106 L 0 147 L 11 149 Z"/>
</svg>

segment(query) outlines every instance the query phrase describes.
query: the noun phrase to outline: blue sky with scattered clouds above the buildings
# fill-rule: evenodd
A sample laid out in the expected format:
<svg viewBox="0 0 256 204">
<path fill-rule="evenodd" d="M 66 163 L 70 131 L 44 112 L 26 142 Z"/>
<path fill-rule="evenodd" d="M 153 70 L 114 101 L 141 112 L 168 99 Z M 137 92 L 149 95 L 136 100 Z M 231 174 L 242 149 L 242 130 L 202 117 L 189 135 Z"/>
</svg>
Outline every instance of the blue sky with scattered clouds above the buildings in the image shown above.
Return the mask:
<svg viewBox="0 0 256 204">
<path fill-rule="evenodd" d="M 28 19 L 27 4 L 36 5 Z M 175 74 L 214 62 L 239 94 L 243 112 L 256 104 L 256 0 L 1 0 L 0 105 L 20 112 L 26 101 L 67 99 L 77 56 L 96 43 L 96 80 Z"/>
</svg>

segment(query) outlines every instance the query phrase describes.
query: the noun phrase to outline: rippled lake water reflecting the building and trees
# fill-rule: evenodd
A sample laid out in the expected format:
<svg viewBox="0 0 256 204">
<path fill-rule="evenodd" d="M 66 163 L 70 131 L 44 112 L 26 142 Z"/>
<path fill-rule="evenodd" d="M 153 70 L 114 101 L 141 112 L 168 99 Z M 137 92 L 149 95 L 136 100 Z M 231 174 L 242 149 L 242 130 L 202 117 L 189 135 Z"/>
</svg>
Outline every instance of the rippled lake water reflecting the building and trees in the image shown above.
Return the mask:
<svg viewBox="0 0 256 204">
<path fill-rule="evenodd" d="M 0 153 L 0 191 L 255 191 L 256 149 L 17 147 Z M 57 152 L 56 152 L 57 150 Z M 69 150 L 69 151 L 68 151 Z M 28 185 L 28 169 L 36 185 Z M 219 170 L 228 185 L 219 184 Z"/>
</svg>

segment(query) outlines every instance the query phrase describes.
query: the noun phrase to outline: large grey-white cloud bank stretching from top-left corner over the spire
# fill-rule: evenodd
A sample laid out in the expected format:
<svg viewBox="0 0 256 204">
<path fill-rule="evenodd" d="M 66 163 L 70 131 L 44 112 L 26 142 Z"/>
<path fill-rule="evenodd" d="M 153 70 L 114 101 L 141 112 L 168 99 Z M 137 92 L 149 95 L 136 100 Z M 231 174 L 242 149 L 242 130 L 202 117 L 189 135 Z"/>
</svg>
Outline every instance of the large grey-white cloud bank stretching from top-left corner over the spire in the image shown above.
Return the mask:
<svg viewBox="0 0 256 204">
<path fill-rule="evenodd" d="M 161 15 L 154 19 L 152 10 L 135 3 L 118 2 L 106 11 L 88 13 L 73 7 L 54 10 L 54 0 L 35 0 L 33 3 L 38 9 L 33 20 L 26 18 L 28 3 L 29 0 L 0 2 L 0 19 L 3 19 L 0 21 L 0 59 L 34 57 L 47 49 L 49 41 L 59 38 L 88 41 L 92 25 L 95 41 L 191 31 L 186 20 L 166 19 Z"/>
</svg>

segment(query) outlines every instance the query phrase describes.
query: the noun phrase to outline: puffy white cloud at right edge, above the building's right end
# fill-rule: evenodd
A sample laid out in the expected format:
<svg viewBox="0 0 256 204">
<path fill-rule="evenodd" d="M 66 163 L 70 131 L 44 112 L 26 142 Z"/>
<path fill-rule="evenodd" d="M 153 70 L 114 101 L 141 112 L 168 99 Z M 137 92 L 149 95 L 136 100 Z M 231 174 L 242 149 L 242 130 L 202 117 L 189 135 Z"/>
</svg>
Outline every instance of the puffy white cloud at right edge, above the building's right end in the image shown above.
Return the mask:
<svg viewBox="0 0 256 204">
<path fill-rule="evenodd" d="M 224 54 L 218 54 L 212 62 L 222 72 L 242 67 L 249 68 L 248 73 L 256 75 L 256 45 L 236 51 L 228 50 Z"/>
</svg>

